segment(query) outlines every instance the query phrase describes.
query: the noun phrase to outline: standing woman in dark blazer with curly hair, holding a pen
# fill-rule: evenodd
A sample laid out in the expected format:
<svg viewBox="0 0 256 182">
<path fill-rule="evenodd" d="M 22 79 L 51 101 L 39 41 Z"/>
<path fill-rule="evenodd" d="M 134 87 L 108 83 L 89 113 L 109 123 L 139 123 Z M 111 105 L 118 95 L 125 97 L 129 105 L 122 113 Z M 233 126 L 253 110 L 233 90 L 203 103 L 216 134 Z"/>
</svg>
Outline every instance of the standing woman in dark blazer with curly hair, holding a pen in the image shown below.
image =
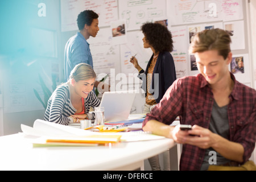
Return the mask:
<svg viewBox="0 0 256 182">
<path fill-rule="evenodd" d="M 170 52 L 173 50 L 171 32 L 159 23 L 145 23 L 141 28 L 144 38 L 144 48 L 152 49 L 152 56 L 146 70 L 141 68 L 136 57 L 130 62 L 138 69 L 138 77 L 142 79 L 142 89 L 146 93 L 146 103 L 143 113 L 150 113 L 150 108 L 158 104 L 166 90 L 176 80 L 174 59 Z M 158 156 L 148 159 L 152 170 L 160 170 Z"/>
</svg>

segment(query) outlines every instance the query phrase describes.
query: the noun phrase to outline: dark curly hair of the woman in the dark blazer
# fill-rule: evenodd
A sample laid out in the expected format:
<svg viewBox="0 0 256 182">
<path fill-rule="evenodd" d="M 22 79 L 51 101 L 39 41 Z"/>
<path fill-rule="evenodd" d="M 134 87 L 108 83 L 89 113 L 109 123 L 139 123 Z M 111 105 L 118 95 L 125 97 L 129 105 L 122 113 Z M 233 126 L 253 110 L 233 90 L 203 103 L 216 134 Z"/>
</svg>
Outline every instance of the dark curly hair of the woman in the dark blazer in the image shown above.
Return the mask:
<svg viewBox="0 0 256 182">
<path fill-rule="evenodd" d="M 145 23 L 142 25 L 141 30 L 155 51 L 173 51 L 172 34 L 166 26 L 159 23 Z"/>
</svg>

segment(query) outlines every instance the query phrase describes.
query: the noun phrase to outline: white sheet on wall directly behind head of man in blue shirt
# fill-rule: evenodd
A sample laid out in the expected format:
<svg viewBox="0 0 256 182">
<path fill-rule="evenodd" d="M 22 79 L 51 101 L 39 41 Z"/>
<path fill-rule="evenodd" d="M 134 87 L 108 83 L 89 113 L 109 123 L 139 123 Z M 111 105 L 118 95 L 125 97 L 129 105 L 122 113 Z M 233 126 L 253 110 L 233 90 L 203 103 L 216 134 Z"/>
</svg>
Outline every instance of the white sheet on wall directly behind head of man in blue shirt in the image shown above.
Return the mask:
<svg viewBox="0 0 256 182">
<path fill-rule="evenodd" d="M 99 15 L 99 27 L 110 26 L 118 19 L 117 0 L 61 0 L 61 31 L 78 30 L 77 16 L 84 10 L 93 10 Z"/>
</svg>

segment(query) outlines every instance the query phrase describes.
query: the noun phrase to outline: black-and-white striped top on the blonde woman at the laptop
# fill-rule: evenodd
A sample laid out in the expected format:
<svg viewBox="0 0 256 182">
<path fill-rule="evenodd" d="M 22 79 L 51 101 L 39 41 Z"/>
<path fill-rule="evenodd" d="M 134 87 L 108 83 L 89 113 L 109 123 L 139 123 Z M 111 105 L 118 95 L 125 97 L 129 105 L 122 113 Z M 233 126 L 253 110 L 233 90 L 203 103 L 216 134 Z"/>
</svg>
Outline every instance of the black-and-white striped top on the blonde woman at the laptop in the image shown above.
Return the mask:
<svg viewBox="0 0 256 182">
<path fill-rule="evenodd" d="M 86 114 L 89 113 L 91 106 L 93 108 L 100 106 L 100 100 L 97 98 L 93 91 L 91 91 L 88 94 L 88 97 L 84 100 L 84 108 Z M 44 114 L 44 120 L 59 123 L 61 125 L 68 125 L 69 122 L 73 122 L 72 118 L 69 116 L 75 114 L 76 111 L 77 110 L 72 106 L 71 103 L 70 86 L 68 84 L 60 85 L 49 98 L 46 113 Z M 93 118 L 94 115 L 91 116 L 90 119 Z"/>
</svg>

